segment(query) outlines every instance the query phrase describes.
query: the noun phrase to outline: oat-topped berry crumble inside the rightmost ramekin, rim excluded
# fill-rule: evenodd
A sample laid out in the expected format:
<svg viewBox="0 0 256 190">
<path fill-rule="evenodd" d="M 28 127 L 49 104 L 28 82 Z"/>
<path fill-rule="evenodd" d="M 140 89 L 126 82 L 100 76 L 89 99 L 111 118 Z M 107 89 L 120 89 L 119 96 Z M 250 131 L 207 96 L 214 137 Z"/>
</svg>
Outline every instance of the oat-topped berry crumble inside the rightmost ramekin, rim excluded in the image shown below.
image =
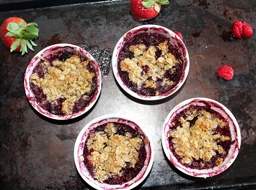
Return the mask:
<svg viewBox="0 0 256 190">
<path fill-rule="evenodd" d="M 195 105 L 175 116 L 167 137 L 177 160 L 198 170 L 220 167 L 234 143 L 225 118 L 210 107 Z"/>
</svg>

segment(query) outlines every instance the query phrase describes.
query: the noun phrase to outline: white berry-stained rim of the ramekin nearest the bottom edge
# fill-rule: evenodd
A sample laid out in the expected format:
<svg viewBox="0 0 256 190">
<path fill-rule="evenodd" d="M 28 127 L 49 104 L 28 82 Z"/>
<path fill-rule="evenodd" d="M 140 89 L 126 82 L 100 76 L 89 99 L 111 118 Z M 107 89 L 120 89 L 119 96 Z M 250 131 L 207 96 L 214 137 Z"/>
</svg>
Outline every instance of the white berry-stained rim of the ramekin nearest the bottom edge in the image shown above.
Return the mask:
<svg viewBox="0 0 256 190">
<path fill-rule="evenodd" d="M 146 159 L 146 162 L 148 162 L 148 165 L 144 166 L 143 169 L 138 174 L 138 176 L 139 175 L 141 176 L 138 178 L 139 180 L 136 177 L 136 178 L 132 179 L 131 181 L 128 181 L 122 185 L 103 184 L 103 183 L 100 183 L 99 181 L 96 181 L 95 179 L 92 178 L 92 176 L 90 176 L 90 173 L 88 172 L 87 168 L 84 166 L 84 163 L 83 162 L 80 163 L 78 158 L 83 153 L 84 142 L 86 140 L 88 133 L 91 130 L 90 128 L 93 129 L 94 127 L 97 127 L 100 124 L 103 124 L 103 123 L 99 124 L 99 122 L 101 122 L 101 121 L 107 120 L 108 122 L 114 122 L 114 121 L 118 121 L 119 119 L 131 121 L 131 123 L 135 123 L 138 127 L 140 127 L 140 130 L 144 133 L 145 137 L 148 140 L 148 144 L 146 146 L 147 146 L 147 148 L 150 148 L 151 153 L 149 155 L 150 157 L 147 156 L 147 159 Z M 95 126 L 95 124 L 96 124 L 96 126 Z M 131 126 L 131 124 L 128 124 L 128 125 Z M 124 115 L 108 114 L 108 115 L 102 115 L 98 118 L 93 119 L 88 124 L 86 124 L 85 127 L 81 130 L 81 132 L 79 133 L 79 135 L 76 139 L 76 143 L 75 143 L 74 161 L 75 161 L 75 165 L 76 165 L 76 168 L 77 168 L 79 174 L 84 179 L 84 181 L 86 181 L 87 184 L 89 184 L 91 187 L 93 187 L 97 190 L 124 190 L 124 189 L 131 190 L 132 188 L 139 185 L 148 176 L 148 174 L 151 170 L 151 167 L 153 165 L 153 161 L 154 161 L 154 148 L 153 148 L 151 138 L 148 136 L 147 132 L 145 131 L 145 127 L 142 127 L 142 125 L 140 125 L 137 121 L 134 121 L 131 118 L 128 118 Z M 80 164 L 81 164 L 81 166 L 80 166 Z M 82 167 L 83 170 L 85 170 L 85 171 L 81 170 L 80 167 Z M 85 172 L 85 174 L 84 174 L 84 172 Z"/>
</svg>

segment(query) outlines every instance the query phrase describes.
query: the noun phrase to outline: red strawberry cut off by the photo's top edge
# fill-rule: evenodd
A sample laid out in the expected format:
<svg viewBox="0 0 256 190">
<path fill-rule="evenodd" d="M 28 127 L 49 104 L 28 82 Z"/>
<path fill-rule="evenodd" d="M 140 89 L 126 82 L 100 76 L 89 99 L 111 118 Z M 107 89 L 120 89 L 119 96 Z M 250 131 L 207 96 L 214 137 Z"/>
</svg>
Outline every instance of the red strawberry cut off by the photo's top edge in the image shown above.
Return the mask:
<svg viewBox="0 0 256 190">
<path fill-rule="evenodd" d="M 131 0 L 131 15 L 137 21 L 149 20 L 159 14 L 161 4 L 168 3 L 168 0 Z"/>
</svg>

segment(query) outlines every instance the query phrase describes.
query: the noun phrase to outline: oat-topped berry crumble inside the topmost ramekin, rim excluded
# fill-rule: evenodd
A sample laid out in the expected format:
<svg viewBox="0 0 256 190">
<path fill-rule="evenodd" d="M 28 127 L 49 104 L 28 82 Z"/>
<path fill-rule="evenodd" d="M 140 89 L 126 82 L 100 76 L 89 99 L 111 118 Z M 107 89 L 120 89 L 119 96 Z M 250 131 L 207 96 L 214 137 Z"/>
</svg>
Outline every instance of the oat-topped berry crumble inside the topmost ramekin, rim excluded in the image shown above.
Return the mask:
<svg viewBox="0 0 256 190">
<path fill-rule="evenodd" d="M 186 61 L 169 37 L 144 30 L 141 28 L 125 41 L 117 69 L 123 83 L 133 92 L 143 96 L 163 95 L 180 82 Z"/>
</svg>

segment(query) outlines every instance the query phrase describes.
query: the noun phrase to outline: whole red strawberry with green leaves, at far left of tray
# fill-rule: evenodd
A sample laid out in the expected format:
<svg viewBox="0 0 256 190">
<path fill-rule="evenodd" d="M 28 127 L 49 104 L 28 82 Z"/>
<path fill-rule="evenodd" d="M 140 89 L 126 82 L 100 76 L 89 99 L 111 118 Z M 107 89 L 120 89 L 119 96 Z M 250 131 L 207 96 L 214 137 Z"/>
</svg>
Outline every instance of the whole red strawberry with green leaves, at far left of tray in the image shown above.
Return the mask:
<svg viewBox="0 0 256 190">
<path fill-rule="evenodd" d="M 38 37 L 37 23 L 26 23 L 18 17 L 7 18 L 0 27 L 0 37 L 3 44 L 11 52 L 28 52 L 27 47 L 34 51 L 32 46 L 37 46 L 32 40 Z"/>
</svg>

